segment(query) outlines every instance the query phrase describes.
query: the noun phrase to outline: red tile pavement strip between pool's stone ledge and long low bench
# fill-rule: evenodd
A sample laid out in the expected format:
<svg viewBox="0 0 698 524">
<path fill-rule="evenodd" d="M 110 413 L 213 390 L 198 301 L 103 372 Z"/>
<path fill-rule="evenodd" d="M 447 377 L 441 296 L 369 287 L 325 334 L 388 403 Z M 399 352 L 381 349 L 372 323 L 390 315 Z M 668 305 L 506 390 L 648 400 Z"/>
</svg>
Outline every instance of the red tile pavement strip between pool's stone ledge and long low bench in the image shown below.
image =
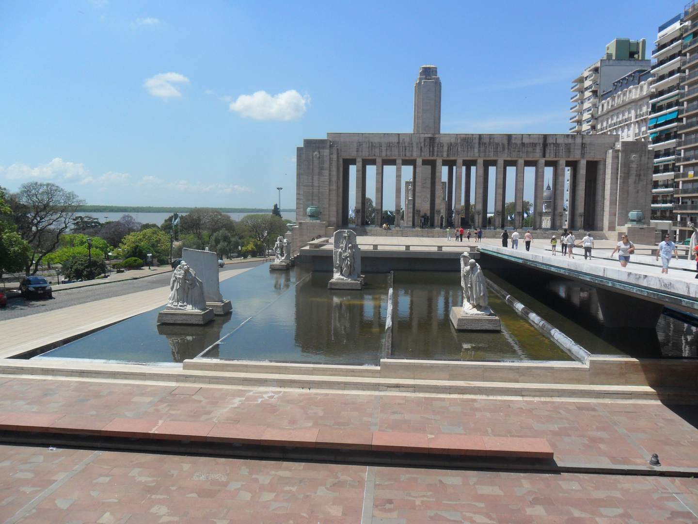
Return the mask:
<svg viewBox="0 0 698 524">
<path fill-rule="evenodd" d="M 57 417 L 215 422 L 207 439 L 215 439 L 216 431 L 221 437 L 226 431 L 239 437 L 245 437 L 240 432 L 246 432 L 245 442 L 261 438 L 251 426 L 315 428 L 318 437 L 324 428 L 532 437 L 546 439 L 558 463 L 646 465 L 651 453 L 658 453 L 664 466 L 698 467 L 698 417 L 684 420 L 678 410 L 659 402 L 449 398 L 211 386 L 202 386 L 195 395 L 170 394 L 177 389 L 117 381 L 13 378 L 0 384 L 0 410 Z"/>
</svg>

